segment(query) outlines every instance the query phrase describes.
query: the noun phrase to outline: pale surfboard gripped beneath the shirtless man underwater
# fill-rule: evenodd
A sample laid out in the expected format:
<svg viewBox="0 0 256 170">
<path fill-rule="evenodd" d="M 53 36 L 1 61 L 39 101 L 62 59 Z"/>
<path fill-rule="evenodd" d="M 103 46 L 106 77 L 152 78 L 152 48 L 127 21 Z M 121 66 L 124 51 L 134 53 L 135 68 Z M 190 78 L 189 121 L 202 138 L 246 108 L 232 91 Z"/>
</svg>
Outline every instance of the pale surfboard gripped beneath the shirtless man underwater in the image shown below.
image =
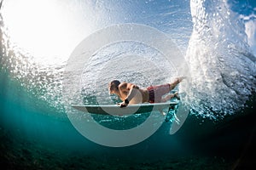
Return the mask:
<svg viewBox="0 0 256 170">
<path fill-rule="evenodd" d="M 79 111 L 84 111 L 98 115 L 113 115 L 125 116 L 131 114 L 140 114 L 150 111 L 163 111 L 172 106 L 177 105 L 178 102 L 154 103 L 154 104 L 136 104 L 128 105 L 120 108 L 119 105 L 72 105 L 72 107 Z"/>
</svg>

